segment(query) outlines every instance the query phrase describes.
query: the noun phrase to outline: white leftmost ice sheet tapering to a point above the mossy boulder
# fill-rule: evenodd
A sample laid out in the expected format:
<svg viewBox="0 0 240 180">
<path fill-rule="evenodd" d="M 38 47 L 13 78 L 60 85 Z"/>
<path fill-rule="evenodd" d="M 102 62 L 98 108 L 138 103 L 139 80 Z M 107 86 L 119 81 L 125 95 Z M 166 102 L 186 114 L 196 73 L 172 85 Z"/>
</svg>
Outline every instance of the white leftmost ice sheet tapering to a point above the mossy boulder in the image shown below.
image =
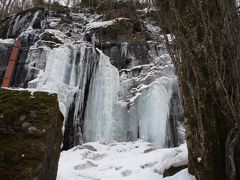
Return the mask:
<svg viewBox="0 0 240 180">
<path fill-rule="evenodd" d="M 47 61 L 44 72 L 29 84 L 37 83 L 37 89 L 58 94 L 60 109 L 63 115 L 67 115 L 71 100 L 68 99 L 76 90 L 64 83 L 65 69 L 69 65 L 71 49 L 62 46 L 47 52 Z M 31 87 L 31 86 L 30 86 Z"/>
</svg>

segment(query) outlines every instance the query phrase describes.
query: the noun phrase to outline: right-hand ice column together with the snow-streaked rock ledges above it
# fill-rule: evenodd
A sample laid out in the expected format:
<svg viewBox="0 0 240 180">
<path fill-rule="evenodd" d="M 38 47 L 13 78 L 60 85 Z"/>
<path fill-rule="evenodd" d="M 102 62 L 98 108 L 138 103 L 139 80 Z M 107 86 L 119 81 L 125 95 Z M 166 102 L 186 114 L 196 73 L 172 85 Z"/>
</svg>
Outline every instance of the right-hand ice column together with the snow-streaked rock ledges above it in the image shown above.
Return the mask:
<svg viewBox="0 0 240 180">
<path fill-rule="evenodd" d="M 121 70 L 119 98 L 128 103 L 127 139 L 141 138 L 164 148 L 168 146 L 170 102 L 178 84 L 171 66 L 159 61 L 161 65 L 156 62 Z"/>
</svg>

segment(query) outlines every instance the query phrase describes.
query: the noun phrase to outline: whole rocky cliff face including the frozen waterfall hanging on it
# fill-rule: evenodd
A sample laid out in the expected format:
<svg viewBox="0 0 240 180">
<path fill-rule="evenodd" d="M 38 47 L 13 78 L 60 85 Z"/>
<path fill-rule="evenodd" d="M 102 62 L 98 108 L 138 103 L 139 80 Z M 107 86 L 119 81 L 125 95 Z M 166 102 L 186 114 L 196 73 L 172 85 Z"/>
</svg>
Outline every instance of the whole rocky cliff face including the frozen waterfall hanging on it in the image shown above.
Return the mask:
<svg viewBox="0 0 240 180">
<path fill-rule="evenodd" d="M 54 3 L 0 23 L 8 29 L 0 31 L 2 38 L 23 44 L 11 87 L 58 94 L 65 116 L 63 149 L 95 140 L 183 143 L 177 78 L 147 7 Z M 5 68 L 6 63 L 2 72 Z"/>
</svg>

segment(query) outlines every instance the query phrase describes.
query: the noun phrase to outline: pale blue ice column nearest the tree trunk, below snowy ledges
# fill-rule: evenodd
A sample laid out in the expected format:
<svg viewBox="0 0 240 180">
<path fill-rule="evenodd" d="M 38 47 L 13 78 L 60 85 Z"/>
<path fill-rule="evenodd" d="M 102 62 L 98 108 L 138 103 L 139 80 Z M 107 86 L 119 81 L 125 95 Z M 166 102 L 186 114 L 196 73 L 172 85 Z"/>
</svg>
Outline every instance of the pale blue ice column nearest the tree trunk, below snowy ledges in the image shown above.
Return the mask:
<svg viewBox="0 0 240 180">
<path fill-rule="evenodd" d="M 157 148 L 167 147 L 167 121 L 170 112 L 172 85 L 175 79 L 161 77 L 149 86 L 142 86 L 141 96 L 138 95 L 130 108 L 131 117 L 139 122 L 139 137 L 152 142 Z"/>
</svg>

